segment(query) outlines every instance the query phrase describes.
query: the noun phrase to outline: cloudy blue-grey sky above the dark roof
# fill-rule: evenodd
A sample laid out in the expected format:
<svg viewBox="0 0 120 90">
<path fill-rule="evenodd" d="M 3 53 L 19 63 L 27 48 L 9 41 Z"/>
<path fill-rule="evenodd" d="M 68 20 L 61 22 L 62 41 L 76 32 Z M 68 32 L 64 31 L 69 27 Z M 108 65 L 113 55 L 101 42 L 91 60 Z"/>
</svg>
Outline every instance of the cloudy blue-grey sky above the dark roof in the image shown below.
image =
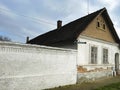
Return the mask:
<svg viewBox="0 0 120 90">
<path fill-rule="evenodd" d="M 30 39 L 106 7 L 120 37 L 120 0 L 0 0 L 0 35 L 14 42 Z"/>
</svg>

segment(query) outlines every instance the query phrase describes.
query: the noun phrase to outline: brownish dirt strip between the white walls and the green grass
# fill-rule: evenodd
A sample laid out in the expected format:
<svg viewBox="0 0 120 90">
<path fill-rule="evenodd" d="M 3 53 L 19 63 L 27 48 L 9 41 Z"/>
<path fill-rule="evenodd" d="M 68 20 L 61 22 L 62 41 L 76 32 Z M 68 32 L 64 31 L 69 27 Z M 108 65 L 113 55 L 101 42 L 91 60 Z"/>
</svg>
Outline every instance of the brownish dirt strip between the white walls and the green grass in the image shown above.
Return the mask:
<svg viewBox="0 0 120 90">
<path fill-rule="evenodd" d="M 118 82 L 120 82 L 120 76 L 99 79 L 90 83 L 75 84 L 48 90 L 94 90 L 96 88 Z"/>
</svg>

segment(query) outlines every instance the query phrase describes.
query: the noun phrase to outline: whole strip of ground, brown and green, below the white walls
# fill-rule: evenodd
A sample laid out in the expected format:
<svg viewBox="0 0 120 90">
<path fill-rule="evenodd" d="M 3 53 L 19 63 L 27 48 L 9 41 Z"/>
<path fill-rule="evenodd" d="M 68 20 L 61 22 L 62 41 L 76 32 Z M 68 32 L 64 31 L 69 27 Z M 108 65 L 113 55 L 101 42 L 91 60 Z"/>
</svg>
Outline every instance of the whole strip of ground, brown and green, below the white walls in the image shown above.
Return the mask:
<svg viewBox="0 0 120 90">
<path fill-rule="evenodd" d="M 120 90 L 120 76 L 47 90 Z"/>
</svg>

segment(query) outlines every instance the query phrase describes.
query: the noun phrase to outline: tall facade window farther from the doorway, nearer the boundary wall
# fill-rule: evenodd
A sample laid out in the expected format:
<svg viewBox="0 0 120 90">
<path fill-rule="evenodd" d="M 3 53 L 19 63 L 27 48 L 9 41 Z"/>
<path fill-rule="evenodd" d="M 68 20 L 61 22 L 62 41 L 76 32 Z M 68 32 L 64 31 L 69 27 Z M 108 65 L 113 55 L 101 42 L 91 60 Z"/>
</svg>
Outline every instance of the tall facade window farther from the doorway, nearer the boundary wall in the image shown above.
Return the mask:
<svg viewBox="0 0 120 90">
<path fill-rule="evenodd" d="M 91 64 L 97 64 L 97 47 L 91 47 Z"/>
</svg>

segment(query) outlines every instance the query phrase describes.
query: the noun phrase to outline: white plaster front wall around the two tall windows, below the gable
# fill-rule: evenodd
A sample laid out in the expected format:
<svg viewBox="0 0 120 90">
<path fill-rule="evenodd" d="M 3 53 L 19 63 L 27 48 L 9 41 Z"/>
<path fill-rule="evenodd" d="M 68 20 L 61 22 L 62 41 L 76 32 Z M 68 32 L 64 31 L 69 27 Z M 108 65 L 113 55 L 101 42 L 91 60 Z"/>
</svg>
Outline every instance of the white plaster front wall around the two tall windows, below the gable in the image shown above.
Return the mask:
<svg viewBox="0 0 120 90">
<path fill-rule="evenodd" d="M 92 69 L 95 67 L 114 67 L 115 66 L 115 53 L 119 53 L 118 44 L 113 44 L 109 42 L 105 42 L 102 40 L 97 40 L 93 38 L 89 38 L 86 36 L 80 36 L 78 38 L 78 42 L 86 42 L 86 44 L 80 44 L 78 43 L 78 59 L 77 64 L 78 66 L 85 66 L 88 69 Z M 91 59 L 91 53 L 90 48 L 91 46 L 96 46 L 98 48 L 98 56 L 97 56 L 97 64 L 90 64 Z M 109 64 L 103 64 L 102 63 L 102 50 L 103 48 L 108 49 L 108 61 Z M 119 59 L 120 60 L 120 59 Z M 120 61 L 119 61 L 120 62 Z"/>
</svg>

